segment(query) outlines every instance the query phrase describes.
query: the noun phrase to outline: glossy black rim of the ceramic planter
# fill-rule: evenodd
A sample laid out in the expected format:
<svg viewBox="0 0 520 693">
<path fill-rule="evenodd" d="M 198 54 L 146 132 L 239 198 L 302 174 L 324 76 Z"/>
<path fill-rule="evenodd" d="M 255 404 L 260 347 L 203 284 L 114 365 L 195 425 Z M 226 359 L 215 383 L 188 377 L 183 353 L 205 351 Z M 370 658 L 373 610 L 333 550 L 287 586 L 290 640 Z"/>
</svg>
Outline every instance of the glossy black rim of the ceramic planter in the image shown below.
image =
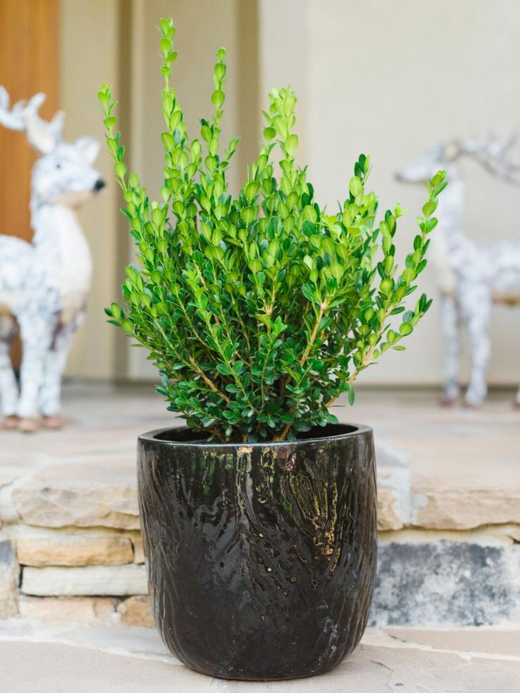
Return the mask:
<svg viewBox="0 0 520 693">
<path fill-rule="evenodd" d="M 207 450 L 208 448 L 217 448 L 223 450 L 232 450 L 236 448 L 283 448 L 283 447 L 294 447 L 295 445 L 306 445 L 309 443 L 323 443 L 327 441 L 336 441 L 345 438 L 354 438 L 357 436 L 373 433 L 370 426 L 365 424 L 354 424 L 354 423 L 340 423 L 331 424 L 331 426 L 348 426 L 352 427 L 352 431 L 346 431 L 343 433 L 338 433 L 337 435 L 325 435 L 325 436 L 313 436 L 311 438 L 301 438 L 298 440 L 283 440 L 283 441 L 262 441 L 256 443 L 249 442 L 237 442 L 237 443 L 218 443 L 218 442 L 205 442 L 205 441 L 177 441 L 177 440 L 165 440 L 160 438 L 161 434 L 165 434 L 168 431 L 190 431 L 187 426 L 167 426 L 165 428 L 158 428 L 153 431 L 148 431 L 147 433 L 142 433 L 138 436 L 138 441 L 148 441 L 154 444 L 169 445 L 182 448 L 201 448 Z M 196 433 L 194 432 L 194 435 Z"/>
</svg>

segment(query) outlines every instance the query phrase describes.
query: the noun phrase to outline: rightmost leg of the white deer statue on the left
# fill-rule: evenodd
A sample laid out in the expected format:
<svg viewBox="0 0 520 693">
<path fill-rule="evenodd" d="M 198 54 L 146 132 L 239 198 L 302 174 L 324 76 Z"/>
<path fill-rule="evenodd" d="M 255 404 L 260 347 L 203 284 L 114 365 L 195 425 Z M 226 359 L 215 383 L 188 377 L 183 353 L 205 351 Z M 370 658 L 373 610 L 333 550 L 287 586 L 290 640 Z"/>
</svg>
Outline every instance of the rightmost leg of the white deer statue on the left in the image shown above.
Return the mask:
<svg viewBox="0 0 520 693">
<path fill-rule="evenodd" d="M 46 428 L 61 428 L 61 378 L 63 377 L 67 357 L 71 349 L 76 330 L 83 321 L 83 314 L 55 334 L 52 347 L 45 359 L 45 376 L 40 391 L 40 413 L 44 417 Z"/>
</svg>

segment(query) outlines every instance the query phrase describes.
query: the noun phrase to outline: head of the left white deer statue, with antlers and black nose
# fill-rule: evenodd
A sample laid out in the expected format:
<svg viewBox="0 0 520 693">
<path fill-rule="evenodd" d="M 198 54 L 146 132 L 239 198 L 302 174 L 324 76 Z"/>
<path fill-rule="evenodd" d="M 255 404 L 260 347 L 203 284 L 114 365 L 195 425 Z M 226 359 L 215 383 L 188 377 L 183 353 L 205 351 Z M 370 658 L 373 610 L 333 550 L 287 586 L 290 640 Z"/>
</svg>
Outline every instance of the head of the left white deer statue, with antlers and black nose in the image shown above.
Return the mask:
<svg viewBox="0 0 520 693">
<path fill-rule="evenodd" d="M 38 114 L 44 101 L 45 94 L 39 93 L 9 109 L 9 95 L 0 86 L 0 124 L 25 132 L 40 154 L 32 170 L 32 204 L 76 207 L 105 187 L 100 172 L 93 167 L 100 146 L 92 137 L 64 142 L 64 113 L 59 111 L 52 120 L 45 121 Z"/>
</svg>

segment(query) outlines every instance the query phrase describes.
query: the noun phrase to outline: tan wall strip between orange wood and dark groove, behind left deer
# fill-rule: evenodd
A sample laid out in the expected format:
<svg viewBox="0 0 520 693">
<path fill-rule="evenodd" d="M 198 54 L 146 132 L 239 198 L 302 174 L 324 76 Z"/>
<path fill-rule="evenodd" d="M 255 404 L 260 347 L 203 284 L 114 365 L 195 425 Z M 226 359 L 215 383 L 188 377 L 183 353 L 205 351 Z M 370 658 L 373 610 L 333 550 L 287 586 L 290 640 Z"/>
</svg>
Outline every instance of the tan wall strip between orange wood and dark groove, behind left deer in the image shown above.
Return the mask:
<svg viewBox="0 0 520 693">
<path fill-rule="evenodd" d="M 119 1 L 61 0 L 60 49 L 64 136 L 67 140 L 97 136 L 102 143 L 97 166 L 112 181 L 96 94 L 103 82 L 116 89 L 119 85 Z M 118 191 L 114 184 L 108 186 L 79 213 L 93 254 L 94 276 L 87 319 L 69 359 L 69 375 L 108 379 L 116 372 L 118 336 L 106 324 L 103 307 L 114 300 L 117 286 Z"/>
</svg>

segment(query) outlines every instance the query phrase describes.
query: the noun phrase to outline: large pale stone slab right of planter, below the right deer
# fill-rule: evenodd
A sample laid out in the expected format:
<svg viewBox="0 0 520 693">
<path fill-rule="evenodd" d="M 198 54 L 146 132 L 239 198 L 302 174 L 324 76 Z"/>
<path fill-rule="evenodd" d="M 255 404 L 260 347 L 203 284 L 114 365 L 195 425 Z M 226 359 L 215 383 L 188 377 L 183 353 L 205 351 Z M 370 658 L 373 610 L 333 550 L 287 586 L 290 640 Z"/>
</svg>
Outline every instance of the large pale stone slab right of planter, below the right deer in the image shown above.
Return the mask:
<svg viewBox="0 0 520 693">
<path fill-rule="evenodd" d="M 344 408 L 335 413 L 346 414 Z M 520 523 L 520 410 L 507 393 L 471 410 L 441 408 L 431 392 L 360 391 L 350 413 L 372 425 L 380 446 L 408 462 L 404 526 Z"/>
</svg>

